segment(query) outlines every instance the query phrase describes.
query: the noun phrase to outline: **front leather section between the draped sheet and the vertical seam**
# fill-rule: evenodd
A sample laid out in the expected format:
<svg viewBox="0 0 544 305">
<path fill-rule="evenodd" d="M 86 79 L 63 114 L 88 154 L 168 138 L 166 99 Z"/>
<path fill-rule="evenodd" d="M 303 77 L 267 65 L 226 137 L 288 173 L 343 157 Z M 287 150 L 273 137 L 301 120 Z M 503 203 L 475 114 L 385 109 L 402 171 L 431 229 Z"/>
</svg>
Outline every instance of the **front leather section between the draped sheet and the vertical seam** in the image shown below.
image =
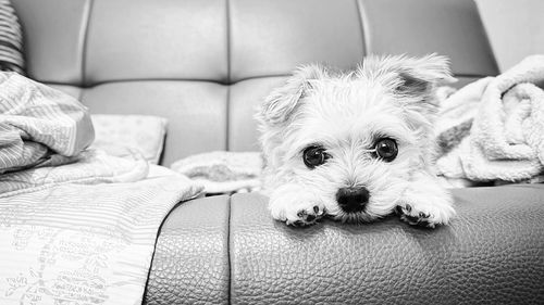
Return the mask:
<svg viewBox="0 0 544 305">
<path fill-rule="evenodd" d="M 162 225 L 145 304 L 227 304 L 228 198 L 185 202 Z"/>
</svg>

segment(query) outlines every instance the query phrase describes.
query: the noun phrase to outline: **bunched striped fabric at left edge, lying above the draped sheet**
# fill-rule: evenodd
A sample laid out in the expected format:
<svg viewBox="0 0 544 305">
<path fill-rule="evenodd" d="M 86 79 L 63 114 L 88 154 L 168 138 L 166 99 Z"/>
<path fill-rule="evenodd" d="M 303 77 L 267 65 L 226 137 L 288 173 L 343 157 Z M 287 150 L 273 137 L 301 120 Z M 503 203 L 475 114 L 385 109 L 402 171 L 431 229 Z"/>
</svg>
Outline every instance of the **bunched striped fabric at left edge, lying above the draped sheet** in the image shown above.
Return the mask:
<svg viewBox="0 0 544 305">
<path fill-rule="evenodd" d="M 87 109 L 77 100 L 0 72 L 0 174 L 69 162 L 94 136 Z"/>
</svg>

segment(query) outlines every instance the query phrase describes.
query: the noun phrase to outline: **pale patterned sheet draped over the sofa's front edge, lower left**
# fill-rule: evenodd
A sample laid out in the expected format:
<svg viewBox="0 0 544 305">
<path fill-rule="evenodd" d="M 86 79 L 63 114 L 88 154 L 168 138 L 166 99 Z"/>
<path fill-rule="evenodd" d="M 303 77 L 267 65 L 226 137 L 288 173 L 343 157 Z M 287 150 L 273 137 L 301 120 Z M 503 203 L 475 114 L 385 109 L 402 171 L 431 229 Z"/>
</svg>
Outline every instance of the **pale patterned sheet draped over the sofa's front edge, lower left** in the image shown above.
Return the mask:
<svg viewBox="0 0 544 305">
<path fill-rule="evenodd" d="M 162 219 L 201 190 L 164 170 L 87 151 L 0 176 L 0 303 L 141 304 Z"/>
</svg>

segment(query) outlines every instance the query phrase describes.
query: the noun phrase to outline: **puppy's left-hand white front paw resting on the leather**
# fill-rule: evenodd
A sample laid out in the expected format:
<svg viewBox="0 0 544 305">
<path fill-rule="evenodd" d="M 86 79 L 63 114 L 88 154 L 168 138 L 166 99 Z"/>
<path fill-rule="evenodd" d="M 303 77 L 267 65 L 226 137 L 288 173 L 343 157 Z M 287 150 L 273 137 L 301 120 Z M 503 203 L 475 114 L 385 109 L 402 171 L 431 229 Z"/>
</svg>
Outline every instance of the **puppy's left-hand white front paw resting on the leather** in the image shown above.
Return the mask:
<svg viewBox="0 0 544 305">
<path fill-rule="evenodd" d="M 276 190 L 270 198 L 269 209 L 274 219 L 296 227 L 313 225 L 326 213 L 324 204 L 304 190 Z"/>
</svg>

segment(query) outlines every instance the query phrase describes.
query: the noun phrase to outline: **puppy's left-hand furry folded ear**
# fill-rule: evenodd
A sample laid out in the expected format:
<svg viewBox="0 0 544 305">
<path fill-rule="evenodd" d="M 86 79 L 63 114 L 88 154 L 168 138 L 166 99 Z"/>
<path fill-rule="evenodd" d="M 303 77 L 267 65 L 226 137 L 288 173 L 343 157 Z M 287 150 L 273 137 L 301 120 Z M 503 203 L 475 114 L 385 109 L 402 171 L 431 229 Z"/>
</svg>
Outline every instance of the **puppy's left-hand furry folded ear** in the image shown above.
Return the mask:
<svg viewBox="0 0 544 305">
<path fill-rule="evenodd" d="M 300 101 L 312 89 L 312 80 L 325 78 L 326 68 L 311 64 L 298 67 L 287 81 L 274 89 L 258 110 L 257 118 L 270 126 L 280 126 L 292 117 Z"/>
</svg>

